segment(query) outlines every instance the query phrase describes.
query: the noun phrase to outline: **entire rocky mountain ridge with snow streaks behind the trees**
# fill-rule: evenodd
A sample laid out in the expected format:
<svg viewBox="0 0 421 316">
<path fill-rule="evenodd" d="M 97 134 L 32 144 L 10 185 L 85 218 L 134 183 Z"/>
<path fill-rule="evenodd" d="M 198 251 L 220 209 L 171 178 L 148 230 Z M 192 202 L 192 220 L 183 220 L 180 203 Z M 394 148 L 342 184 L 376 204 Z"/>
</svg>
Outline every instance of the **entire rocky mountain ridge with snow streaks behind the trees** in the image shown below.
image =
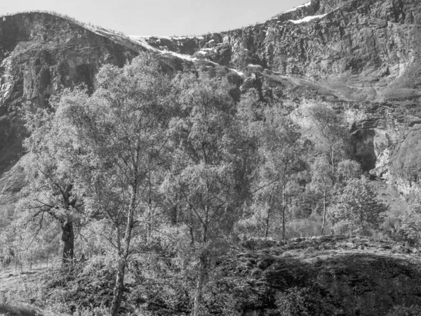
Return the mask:
<svg viewBox="0 0 421 316">
<path fill-rule="evenodd" d="M 13 202 L 9 172 L 22 155 L 22 107 L 45 107 L 63 88 L 95 89 L 106 63 L 121 67 L 140 51 L 169 72 L 186 67 L 231 75 L 241 91 L 308 103 L 347 117 L 364 169 L 408 195 L 421 159 L 421 6 L 416 0 L 312 0 L 240 29 L 201 37 L 128 37 L 54 13 L 0 18 L 0 190 Z M 19 166 L 15 166 L 19 169 Z M 20 176 L 20 180 L 22 176 Z M 18 181 L 19 183 L 19 181 Z M 6 198 L 5 198 L 6 197 Z"/>
</svg>

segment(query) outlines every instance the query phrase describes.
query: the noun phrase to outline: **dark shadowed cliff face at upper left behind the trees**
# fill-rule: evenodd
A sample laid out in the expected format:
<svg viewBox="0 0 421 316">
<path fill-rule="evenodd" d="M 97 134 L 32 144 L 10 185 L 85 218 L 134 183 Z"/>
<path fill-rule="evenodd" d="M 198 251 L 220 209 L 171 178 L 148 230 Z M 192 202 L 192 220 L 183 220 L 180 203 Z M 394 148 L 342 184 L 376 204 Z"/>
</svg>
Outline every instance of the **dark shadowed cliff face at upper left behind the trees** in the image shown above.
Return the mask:
<svg viewBox="0 0 421 316">
<path fill-rule="evenodd" d="M 122 66 L 136 51 L 46 13 L 0 18 L 0 173 L 22 150 L 22 105 L 44 107 L 63 88 L 95 88 L 101 65 Z"/>
</svg>

